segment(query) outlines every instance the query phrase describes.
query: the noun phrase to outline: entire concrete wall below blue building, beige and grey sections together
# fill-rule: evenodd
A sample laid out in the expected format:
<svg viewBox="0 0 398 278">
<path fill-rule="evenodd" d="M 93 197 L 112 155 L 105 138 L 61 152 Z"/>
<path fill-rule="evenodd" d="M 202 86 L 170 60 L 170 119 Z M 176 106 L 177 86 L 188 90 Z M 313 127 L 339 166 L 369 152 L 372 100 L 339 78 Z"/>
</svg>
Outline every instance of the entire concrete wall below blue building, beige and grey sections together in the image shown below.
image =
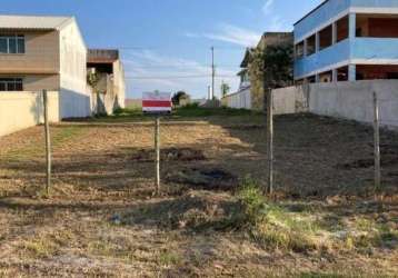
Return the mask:
<svg viewBox="0 0 398 278">
<path fill-rule="evenodd" d="M 360 122 L 374 121 L 377 92 L 380 123 L 398 128 L 398 80 L 314 83 L 272 91 L 275 115 L 312 112 Z"/>
</svg>

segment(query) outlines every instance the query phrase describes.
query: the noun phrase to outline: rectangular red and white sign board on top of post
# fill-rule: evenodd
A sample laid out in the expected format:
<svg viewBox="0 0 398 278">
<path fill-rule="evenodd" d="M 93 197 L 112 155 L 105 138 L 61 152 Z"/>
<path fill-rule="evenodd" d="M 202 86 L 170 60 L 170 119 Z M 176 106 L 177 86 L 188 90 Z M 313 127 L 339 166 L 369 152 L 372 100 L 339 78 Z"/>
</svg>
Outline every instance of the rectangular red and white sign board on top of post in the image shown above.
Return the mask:
<svg viewBox="0 0 398 278">
<path fill-rule="evenodd" d="M 142 111 L 151 113 L 171 112 L 170 92 L 143 92 Z"/>
</svg>

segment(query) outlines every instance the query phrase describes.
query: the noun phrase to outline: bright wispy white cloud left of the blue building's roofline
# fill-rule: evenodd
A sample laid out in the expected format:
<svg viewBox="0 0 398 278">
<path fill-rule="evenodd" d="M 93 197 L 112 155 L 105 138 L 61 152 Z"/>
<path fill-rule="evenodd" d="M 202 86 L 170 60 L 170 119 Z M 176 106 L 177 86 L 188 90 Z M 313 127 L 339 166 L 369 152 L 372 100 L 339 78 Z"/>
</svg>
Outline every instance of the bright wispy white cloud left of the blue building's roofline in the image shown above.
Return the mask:
<svg viewBox="0 0 398 278">
<path fill-rule="evenodd" d="M 202 34 L 188 32 L 186 36 L 189 38 L 207 38 L 242 47 L 252 47 L 258 43 L 261 33 L 241 27 L 221 23 L 216 32 L 207 32 Z"/>
</svg>

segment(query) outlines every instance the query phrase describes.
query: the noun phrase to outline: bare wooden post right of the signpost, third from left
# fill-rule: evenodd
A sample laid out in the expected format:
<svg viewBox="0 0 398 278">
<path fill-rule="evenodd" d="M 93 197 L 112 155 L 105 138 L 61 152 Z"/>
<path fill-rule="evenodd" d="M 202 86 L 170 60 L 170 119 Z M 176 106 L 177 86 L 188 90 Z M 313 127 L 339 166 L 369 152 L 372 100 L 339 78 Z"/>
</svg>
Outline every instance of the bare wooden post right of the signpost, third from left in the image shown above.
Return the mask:
<svg viewBox="0 0 398 278">
<path fill-rule="evenodd" d="M 268 155 L 268 193 L 273 192 L 273 98 L 272 90 L 267 91 L 267 155 Z"/>
</svg>

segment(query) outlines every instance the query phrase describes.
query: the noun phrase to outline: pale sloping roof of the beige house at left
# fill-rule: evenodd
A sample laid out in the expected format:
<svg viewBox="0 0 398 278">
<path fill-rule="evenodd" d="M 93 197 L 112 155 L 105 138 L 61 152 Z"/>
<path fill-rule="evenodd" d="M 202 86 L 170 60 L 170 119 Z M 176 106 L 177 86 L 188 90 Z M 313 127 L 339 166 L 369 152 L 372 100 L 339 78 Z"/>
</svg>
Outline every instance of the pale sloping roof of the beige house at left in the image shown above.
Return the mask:
<svg viewBox="0 0 398 278">
<path fill-rule="evenodd" d="M 60 30 L 72 17 L 0 16 L 0 29 Z"/>
</svg>

